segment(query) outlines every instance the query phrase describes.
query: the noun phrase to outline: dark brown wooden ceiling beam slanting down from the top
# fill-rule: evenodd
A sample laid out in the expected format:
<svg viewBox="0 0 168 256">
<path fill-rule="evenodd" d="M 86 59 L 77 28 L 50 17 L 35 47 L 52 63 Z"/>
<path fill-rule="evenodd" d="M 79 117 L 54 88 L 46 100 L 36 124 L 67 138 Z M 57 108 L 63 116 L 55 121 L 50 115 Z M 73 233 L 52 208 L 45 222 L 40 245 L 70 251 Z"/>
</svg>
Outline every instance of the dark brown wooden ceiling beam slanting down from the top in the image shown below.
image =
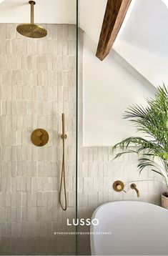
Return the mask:
<svg viewBox="0 0 168 256">
<path fill-rule="evenodd" d="M 112 45 L 122 26 L 124 17 L 127 14 L 129 4 L 132 0 L 108 0 L 104 14 L 102 31 L 99 37 L 96 56 L 102 61 L 109 54 Z"/>
</svg>

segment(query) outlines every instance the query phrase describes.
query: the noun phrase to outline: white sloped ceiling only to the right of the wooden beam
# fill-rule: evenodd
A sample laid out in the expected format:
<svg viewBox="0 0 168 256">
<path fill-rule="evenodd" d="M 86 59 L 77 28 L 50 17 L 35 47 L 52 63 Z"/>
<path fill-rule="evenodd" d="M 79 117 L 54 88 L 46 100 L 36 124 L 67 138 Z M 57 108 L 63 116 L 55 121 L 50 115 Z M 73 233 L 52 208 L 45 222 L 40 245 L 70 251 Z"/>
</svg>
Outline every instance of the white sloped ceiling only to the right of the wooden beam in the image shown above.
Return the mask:
<svg viewBox="0 0 168 256">
<path fill-rule="evenodd" d="M 155 87 L 168 84 L 168 0 L 132 0 L 113 49 Z"/>
</svg>

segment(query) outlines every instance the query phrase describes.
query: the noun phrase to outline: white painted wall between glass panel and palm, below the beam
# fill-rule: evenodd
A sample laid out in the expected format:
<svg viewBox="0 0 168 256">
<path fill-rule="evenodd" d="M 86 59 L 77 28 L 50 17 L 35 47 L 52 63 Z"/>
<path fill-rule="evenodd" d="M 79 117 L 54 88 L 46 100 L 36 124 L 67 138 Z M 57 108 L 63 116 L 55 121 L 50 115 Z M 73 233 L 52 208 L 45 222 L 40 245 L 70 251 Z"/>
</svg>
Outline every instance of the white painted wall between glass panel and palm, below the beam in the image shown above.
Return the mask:
<svg viewBox="0 0 168 256">
<path fill-rule="evenodd" d="M 130 104 L 145 104 L 154 92 L 139 82 L 112 52 L 99 61 L 97 44 L 84 34 L 84 146 L 112 146 L 134 129 L 122 114 Z"/>
</svg>

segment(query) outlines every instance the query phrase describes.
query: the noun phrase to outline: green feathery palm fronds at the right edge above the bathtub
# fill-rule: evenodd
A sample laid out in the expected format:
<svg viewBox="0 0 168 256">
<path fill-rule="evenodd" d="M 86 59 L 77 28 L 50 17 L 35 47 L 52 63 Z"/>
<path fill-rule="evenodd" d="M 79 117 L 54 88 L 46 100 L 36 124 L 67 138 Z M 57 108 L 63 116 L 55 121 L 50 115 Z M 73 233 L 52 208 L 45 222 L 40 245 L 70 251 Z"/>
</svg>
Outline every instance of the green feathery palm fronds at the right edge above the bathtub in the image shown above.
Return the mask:
<svg viewBox="0 0 168 256">
<path fill-rule="evenodd" d="M 147 99 L 147 103 L 147 107 L 134 104 L 124 114 L 124 119 L 133 122 L 143 137 L 128 137 L 115 144 L 112 152 L 117 147 L 122 149 L 115 158 L 137 153 L 139 173 L 150 167 L 163 177 L 168 187 L 168 90 L 165 85 L 158 87 L 155 99 Z M 131 149 L 132 145 L 136 147 Z"/>
</svg>

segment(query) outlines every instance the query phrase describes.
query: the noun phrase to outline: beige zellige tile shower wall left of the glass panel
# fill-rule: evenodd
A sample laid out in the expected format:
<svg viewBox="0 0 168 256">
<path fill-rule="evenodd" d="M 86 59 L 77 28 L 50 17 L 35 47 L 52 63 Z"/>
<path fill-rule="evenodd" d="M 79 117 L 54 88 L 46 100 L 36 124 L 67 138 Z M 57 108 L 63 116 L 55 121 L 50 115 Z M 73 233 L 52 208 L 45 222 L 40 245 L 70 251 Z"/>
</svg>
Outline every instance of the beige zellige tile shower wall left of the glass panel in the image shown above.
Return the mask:
<svg viewBox="0 0 168 256">
<path fill-rule="evenodd" d="M 75 26 L 44 26 L 44 39 L 16 33 L 0 24 L 0 254 L 74 254 L 68 231 L 74 217 Z M 61 113 L 66 114 L 68 209 L 59 207 Z M 49 132 L 44 147 L 31 144 L 31 132 Z"/>
</svg>

